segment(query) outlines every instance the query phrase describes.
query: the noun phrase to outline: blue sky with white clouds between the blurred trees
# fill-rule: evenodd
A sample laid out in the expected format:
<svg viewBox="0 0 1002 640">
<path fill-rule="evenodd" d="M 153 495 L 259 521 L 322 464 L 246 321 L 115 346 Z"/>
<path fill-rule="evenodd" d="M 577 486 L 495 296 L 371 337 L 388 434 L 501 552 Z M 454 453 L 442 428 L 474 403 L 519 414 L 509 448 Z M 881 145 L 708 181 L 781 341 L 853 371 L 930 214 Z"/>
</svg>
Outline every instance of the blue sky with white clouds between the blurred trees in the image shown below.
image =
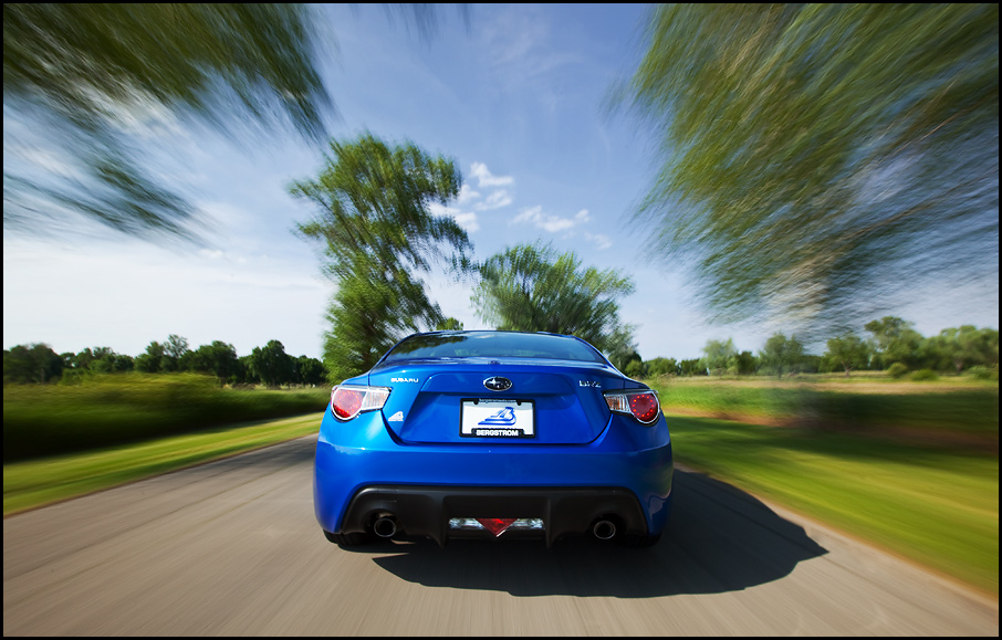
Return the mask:
<svg viewBox="0 0 1002 640">
<path fill-rule="evenodd" d="M 430 40 L 392 27 L 380 8 L 328 11 L 332 135 L 369 130 L 451 157 L 465 186 L 441 212 L 468 230 L 477 258 L 541 240 L 628 273 L 637 291 L 620 315 L 636 325 L 645 359 L 698 357 L 711 338 L 755 352 L 786 329 L 708 324 L 686 270 L 643 252 L 650 230 L 629 212 L 653 175 L 653 140 L 602 105 L 643 53 L 644 6 L 474 6 L 469 28 L 447 11 Z M 316 175 L 323 149 L 292 134 L 237 145 L 170 118 L 143 136 L 163 179 L 186 185 L 209 213 L 208 244 L 144 242 L 88 223 L 44 238 L 4 230 L 4 348 L 43 342 L 60 353 L 108 346 L 135 356 L 178 334 L 192 348 L 219 339 L 242 356 L 278 339 L 293 356 L 321 357 L 333 285 L 316 248 L 292 233 L 313 211 L 288 186 Z M 469 285 L 438 274 L 426 282 L 446 315 L 487 328 Z M 923 335 L 998 327 L 998 281 L 977 294 L 947 283 L 914 301 L 887 314 Z"/>
</svg>

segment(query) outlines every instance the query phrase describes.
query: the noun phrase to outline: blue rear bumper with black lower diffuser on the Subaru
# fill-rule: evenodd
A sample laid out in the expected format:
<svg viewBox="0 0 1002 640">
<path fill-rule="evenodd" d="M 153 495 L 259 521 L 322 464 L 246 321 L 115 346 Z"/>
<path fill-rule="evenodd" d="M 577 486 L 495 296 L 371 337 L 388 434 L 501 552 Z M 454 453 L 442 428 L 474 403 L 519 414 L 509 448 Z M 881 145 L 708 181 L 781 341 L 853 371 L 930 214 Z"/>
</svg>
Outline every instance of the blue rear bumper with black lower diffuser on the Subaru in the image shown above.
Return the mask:
<svg viewBox="0 0 1002 640">
<path fill-rule="evenodd" d="M 450 537 L 449 520 L 542 518 L 547 545 L 585 534 L 613 514 L 627 535 L 656 535 L 668 518 L 671 443 L 664 417 L 645 427 L 614 416 L 587 444 L 407 444 L 394 438 L 379 411 L 351 422 L 324 415 L 314 462 L 314 508 L 331 533 L 372 531 L 390 513 L 407 535 Z"/>
</svg>

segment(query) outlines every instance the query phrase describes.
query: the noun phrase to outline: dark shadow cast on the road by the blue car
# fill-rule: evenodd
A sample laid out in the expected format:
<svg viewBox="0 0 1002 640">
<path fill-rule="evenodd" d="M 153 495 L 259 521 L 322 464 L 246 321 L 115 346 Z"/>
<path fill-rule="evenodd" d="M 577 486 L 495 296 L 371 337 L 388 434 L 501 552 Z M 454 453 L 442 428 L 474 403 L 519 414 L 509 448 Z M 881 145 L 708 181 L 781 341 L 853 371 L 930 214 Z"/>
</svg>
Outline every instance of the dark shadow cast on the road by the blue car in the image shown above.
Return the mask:
<svg viewBox="0 0 1002 640">
<path fill-rule="evenodd" d="M 676 471 L 671 524 L 661 541 L 630 549 L 570 538 L 540 541 L 380 541 L 352 553 L 428 587 L 488 589 L 513 596 L 649 598 L 747 589 L 789 575 L 827 553 L 803 527 L 723 482 Z"/>
</svg>

